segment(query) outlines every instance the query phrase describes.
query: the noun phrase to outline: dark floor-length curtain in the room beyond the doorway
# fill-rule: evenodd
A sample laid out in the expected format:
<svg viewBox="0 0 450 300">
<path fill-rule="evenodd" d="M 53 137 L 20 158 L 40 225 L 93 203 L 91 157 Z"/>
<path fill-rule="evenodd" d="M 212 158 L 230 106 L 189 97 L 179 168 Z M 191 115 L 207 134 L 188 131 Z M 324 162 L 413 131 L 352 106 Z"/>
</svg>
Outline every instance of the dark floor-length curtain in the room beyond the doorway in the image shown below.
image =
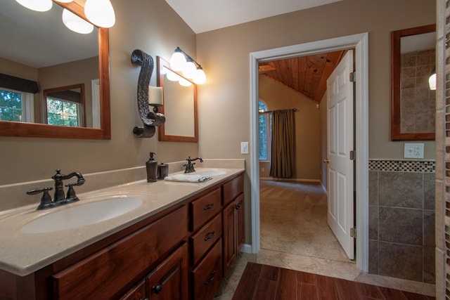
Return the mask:
<svg viewBox="0 0 450 300">
<path fill-rule="evenodd" d="M 292 178 L 295 170 L 294 110 L 274 110 L 269 175 Z"/>
</svg>

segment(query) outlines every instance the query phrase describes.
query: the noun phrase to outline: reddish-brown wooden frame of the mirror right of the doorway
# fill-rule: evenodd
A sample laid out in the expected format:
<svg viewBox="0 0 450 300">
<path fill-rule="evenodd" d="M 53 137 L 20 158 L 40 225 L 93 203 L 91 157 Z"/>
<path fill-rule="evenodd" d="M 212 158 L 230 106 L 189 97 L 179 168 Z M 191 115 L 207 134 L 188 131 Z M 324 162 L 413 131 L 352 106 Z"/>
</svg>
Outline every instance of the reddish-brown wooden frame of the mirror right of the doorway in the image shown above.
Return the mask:
<svg viewBox="0 0 450 300">
<path fill-rule="evenodd" d="M 435 133 L 401 133 L 401 37 L 424 34 L 436 31 L 436 25 L 425 25 L 395 30 L 391 32 L 391 141 L 429 141 L 435 140 Z"/>
</svg>

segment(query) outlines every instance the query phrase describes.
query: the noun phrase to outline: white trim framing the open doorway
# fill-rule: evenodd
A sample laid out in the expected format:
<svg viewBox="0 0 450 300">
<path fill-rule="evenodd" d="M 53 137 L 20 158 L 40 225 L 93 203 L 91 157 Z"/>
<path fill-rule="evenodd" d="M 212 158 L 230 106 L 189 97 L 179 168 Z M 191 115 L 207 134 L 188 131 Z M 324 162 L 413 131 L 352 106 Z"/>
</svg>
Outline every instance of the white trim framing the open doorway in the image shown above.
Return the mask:
<svg viewBox="0 0 450 300">
<path fill-rule="evenodd" d="M 305 44 L 250 53 L 250 193 L 252 209 L 252 253 L 260 249 L 259 159 L 257 143 L 258 63 L 306 56 L 313 53 L 355 48 L 356 62 L 356 265 L 368 272 L 368 33 L 313 41 Z"/>
</svg>

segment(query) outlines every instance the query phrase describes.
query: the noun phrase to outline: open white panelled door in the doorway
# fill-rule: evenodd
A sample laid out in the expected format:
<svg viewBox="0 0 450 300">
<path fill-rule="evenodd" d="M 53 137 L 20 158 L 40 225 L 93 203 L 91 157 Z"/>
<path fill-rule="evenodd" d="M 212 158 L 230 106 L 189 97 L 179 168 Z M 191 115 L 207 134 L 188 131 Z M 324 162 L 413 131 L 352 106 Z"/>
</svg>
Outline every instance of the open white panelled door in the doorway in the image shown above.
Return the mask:
<svg viewBox="0 0 450 300">
<path fill-rule="evenodd" d="M 327 80 L 328 226 L 349 259 L 354 259 L 353 51 L 349 50 Z"/>
</svg>

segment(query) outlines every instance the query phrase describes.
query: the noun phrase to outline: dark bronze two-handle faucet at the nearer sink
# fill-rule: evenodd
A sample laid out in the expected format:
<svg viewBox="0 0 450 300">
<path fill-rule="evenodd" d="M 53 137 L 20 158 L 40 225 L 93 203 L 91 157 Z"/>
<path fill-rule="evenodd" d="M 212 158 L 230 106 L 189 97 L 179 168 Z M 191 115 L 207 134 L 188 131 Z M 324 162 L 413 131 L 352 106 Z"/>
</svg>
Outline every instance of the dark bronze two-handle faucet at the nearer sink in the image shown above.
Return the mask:
<svg viewBox="0 0 450 300">
<path fill-rule="evenodd" d="M 75 176 L 77 177 L 77 182 L 68 183 L 67 185 L 65 185 L 66 187 L 68 187 L 68 193 L 67 195 L 65 195 L 63 180 Z M 27 195 L 36 195 L 42 193 L 41 203 L 39 204 L 37 209 L 49 209 L 51 207 L 58 207 L 60 205 L 77 202 L 79 200 L 73 187 L 84 184 L 84 177 L 81 173 L 72 172 L 68 175 L 63 175 L 61 174 L 60 169 L 56 169 L 56 174 L 51 176 L 51 178 L 55 181 L 55 193 L 53 196 L 53 200 L 51 200 L 51 196 L 49 194 L 49 190 L 53 190 L 53 188 L 40 188 L 27 191 Z"/>
</svg>

